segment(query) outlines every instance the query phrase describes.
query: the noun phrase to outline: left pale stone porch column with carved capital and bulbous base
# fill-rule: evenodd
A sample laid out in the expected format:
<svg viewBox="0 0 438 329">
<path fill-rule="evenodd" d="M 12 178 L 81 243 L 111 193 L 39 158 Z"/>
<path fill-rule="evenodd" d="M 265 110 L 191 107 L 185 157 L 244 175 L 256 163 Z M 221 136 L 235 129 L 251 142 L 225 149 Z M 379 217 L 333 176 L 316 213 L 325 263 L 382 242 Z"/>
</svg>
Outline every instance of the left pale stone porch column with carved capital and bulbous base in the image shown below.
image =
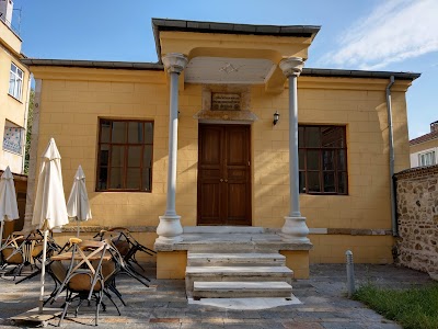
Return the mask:
<svg viewBox="0 0 438 329">
<path fill-rule="evenodd" d="M 168 200 L 165 213 L 160 216 L 157 227 L 158 241 L 174 243 L 183 240 L 181 216 L 175 209 L 176 194 L 176 155 L 177 155 L 177 112 L 178 112 L 178 77 L 184 70 L 187 58 L 183 54 L 168 54 L 163 58 L 165 70 L 170 75 L 170 110 L 169 110 L 169 163 L 168 163 Z"/>
</svg>

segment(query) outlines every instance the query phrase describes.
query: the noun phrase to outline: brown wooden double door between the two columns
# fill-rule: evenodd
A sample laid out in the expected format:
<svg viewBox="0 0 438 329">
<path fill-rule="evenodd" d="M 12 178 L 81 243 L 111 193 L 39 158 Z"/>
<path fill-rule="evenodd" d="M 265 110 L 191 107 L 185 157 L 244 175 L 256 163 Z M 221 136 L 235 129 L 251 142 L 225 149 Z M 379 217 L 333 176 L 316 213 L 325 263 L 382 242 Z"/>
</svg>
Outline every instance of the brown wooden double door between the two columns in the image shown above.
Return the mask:
<svg viewBox="0 0 438 329">
<path fill-rule="evenodd" d="M 199 124 L 198 225 L 252 225 L 250 125 Z"/>
</svg>

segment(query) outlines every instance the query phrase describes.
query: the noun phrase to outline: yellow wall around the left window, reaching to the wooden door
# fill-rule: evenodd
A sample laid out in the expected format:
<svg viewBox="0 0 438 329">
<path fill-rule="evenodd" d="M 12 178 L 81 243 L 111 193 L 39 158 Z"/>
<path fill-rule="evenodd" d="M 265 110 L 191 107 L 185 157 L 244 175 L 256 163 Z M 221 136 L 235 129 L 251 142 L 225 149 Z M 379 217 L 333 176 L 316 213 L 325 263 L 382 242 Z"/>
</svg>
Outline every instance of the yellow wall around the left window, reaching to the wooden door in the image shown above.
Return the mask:
<svg viewBox="0 0 438 329">
<path fill-rule="evenodd" d="M 62 157 L 67 197 L 76 170 L 82 166 L 93 214 L 87 225 L 157 226 L 158 216 L 165 209 L 168 172 L 169 89 L 164 73 L 126 71 L 120 78 L 112 71 L 100 70 L 99 77 L 87 76 L 83 69 L 77 71 L 84 75 L 74 81 L 43 80 L 38 155 L 54 137 Z M 186 88 L 181 98 L 182 106 L 191 101 L 191 93 L 196 90 L 199 87 Z M 152 193 L 95 192 L 100 117 L 153 121 Z M 189 151 L 197 151 L 194 127 L 194 123 L 181 118 L 177 191 L 182 196 L 177 207 L 185 220 L 196 212 L 196 189 L 187 185 L 187 182 L 196 181 L 197 158 Z M 37 168 L 39 166 L 38 162 Z"/>
</svg>

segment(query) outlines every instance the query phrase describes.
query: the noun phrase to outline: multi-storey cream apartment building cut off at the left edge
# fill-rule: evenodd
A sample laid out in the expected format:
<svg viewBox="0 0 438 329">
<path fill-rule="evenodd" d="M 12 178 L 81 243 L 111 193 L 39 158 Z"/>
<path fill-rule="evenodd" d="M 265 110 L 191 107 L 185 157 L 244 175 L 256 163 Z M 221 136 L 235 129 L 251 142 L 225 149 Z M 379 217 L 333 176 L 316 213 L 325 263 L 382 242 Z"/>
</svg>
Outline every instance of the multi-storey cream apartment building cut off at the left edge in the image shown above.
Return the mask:
<svg viewBox="0 0 438 329">
<path fill-rule="evenodd" d="M 21 63 L 22 41 L 11 25 L 12 1 L 0 3 L 0 172 L 10 167 L 15 180 L 21 220 L 7 223 L 4 236 L 23 226 L 26 177 L 24 150 L 31 75 Z"/>
</svg>

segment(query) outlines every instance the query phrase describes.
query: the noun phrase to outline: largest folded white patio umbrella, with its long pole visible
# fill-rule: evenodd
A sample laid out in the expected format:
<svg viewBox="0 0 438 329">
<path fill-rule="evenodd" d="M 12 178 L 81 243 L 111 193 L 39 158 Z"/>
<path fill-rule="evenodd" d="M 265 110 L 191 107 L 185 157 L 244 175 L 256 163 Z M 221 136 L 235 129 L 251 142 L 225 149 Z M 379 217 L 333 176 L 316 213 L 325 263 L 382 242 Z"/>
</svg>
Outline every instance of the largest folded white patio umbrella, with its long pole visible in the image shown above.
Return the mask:
<svg viewBox="0 0 438 329">
<path fill-rule="evenodd" d="M 47 149 L 43 155 L 32 224 L 37 225 L 39 229 L 44 230 L 39 295 L 39 313 L 43 313 L 47 234 L 49 229 L 68 224 L 66 197 L 62 186 L 61 157 L 54 138 L 50 138 Z"/>
</svg>

